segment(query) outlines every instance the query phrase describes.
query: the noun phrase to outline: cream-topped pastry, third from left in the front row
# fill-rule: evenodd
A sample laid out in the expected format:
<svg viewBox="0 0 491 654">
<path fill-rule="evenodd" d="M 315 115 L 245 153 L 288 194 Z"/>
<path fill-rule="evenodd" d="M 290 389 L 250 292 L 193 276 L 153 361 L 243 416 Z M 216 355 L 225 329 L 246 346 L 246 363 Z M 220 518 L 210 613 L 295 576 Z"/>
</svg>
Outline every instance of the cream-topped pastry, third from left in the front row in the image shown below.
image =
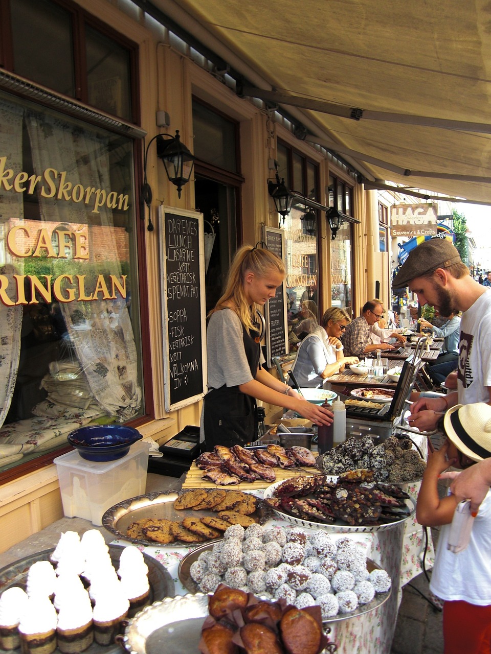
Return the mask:
<svg viewBox="0 0 491 654">
<path fill-rule="evenodd" d="M 84 588 L 64 598 L 58 613 L 56 636 L 58 649 L 63 654 L 78 654 L 94 642 L 92 604 Z"/>
</svg>

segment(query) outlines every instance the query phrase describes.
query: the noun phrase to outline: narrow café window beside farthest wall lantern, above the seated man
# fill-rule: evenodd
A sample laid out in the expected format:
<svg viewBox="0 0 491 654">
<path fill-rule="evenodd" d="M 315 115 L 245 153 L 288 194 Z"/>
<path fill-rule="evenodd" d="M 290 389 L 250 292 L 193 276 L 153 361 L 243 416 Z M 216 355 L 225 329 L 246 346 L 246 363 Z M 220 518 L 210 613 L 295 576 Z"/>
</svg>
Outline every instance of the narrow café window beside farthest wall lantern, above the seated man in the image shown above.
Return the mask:
<svg viewBox="0 0 491 654">
<path fill-rule="evenodd" d="M 329 175 L 326 196 L 329 207 L 336 207 L 341 213 L 352 216 L 352 186 L 336 175 Z M 336 233 L 336 238 L 329 241 L 331 248 L 331 305 L 347 309 L 350 315 L 353 313 L 352 230 L 352 223 L 344 221 Z"/>
</svg>

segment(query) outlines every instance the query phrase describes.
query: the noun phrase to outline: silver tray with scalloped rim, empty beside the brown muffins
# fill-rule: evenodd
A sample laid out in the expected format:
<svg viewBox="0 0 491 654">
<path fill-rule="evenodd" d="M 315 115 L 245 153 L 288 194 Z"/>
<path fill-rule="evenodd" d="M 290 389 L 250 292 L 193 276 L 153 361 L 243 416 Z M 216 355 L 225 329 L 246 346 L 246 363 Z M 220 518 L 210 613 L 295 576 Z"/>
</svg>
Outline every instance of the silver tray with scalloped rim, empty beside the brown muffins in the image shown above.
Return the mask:
<svg viewBox="0 0 491 654">
<path fill-rule="evenodd" d="M 122 644 L 130 654 L 196 654 L 208 616 L 208 595 L 166 598 L 128 623 Z"/>
</svg>

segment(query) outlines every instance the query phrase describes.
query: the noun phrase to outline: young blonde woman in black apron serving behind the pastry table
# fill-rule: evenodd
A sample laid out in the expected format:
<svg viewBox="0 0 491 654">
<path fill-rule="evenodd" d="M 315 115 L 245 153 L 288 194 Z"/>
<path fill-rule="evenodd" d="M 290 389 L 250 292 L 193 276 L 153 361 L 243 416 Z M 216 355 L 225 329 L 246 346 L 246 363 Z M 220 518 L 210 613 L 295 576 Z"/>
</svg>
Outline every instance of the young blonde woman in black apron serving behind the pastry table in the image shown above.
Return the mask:
<svg viewBox="0 0 491 654">
<path fill-rule="evenodd" d="M 283 261 L 266 248 L 245 245 L 236 253 L 223 295 L 209 313 L 208 393 L 203 402 L 206 449 L 244 445 L 256 438 L 255 400 L 293 409 L 314 424 L 333 414 L 310 404 L 261 366 L 264 318 L 259 312 L 285 279 Z"/>
</svg>

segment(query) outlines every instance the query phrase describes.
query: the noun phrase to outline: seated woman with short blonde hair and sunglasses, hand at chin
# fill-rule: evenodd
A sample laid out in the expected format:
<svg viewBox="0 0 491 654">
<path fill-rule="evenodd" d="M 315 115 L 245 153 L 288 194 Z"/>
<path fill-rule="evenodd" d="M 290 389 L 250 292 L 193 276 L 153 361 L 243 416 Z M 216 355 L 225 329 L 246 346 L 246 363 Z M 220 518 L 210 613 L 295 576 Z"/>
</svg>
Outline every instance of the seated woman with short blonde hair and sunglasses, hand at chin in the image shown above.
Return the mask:
<svg viewBox="0 0 491 654">
<path fill-rule="evenodd" d="M 303 339 L 292 366 L 300 387 L 321 386 L 324 379 L 344 370 L 345 365 L 358 363 L 357 356 L 344 356 L 340 341 L 349 322 L 350 317 L 344 309 L 331 307 L 324 313 L 315 332 Z"/>
</svg>

